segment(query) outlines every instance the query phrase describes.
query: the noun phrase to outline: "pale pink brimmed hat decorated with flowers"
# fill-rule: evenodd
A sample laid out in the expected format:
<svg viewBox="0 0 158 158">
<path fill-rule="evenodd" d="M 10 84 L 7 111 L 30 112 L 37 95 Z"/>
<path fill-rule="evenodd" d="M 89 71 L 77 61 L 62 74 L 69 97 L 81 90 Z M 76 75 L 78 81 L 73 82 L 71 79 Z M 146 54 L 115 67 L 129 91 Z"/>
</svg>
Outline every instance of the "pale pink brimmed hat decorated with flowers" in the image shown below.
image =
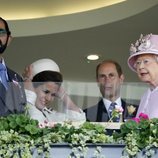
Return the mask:
<svg viewBox="0 0 158 158">
<path fill-rule="evenodd" d="M 131 44 L 130 57 L 128 58 L 128 66 L 131 70 L 136 71 L 134 63 L 138 55 L 141 54 L 155 54 L 158 55 L 158 35 L 148 34 L 136 41 L 135 44 Z"/>
</svg>

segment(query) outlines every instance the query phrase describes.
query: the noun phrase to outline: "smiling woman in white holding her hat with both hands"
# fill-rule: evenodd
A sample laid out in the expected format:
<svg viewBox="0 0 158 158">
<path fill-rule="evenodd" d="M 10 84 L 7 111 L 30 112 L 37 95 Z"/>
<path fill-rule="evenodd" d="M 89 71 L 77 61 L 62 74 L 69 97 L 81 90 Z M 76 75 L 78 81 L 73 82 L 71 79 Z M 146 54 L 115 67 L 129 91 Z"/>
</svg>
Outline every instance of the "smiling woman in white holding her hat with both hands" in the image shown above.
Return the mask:
<svg viewBox="0 0 158 158">
<path fill-rule="evenodd" d="M 26 67 L 23 74 L 28 113 L 39 123 L 60 121 L 85 121 L 85 113 L 79 109 L 61 88 L 63 81 L 58 65 L 51 59 L 40 59 Z M 50 109 L 54 98 L 66 105 L 66 113 Z"/>
</svg>

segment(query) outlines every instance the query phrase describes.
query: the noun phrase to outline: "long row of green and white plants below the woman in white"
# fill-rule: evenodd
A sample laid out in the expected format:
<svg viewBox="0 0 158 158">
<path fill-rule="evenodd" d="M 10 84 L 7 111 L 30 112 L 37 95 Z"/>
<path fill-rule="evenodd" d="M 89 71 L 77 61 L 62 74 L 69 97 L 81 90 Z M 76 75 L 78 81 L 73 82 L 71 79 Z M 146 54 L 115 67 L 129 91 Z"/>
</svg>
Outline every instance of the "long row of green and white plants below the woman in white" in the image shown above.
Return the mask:
<svg viewBox="0 0 158 158">
<path fill-rule="evenodd" d="M 86 155 L 86 143 L 112 143 L 113 137 L 105 134 L 105 127 L 85 122 L 77 127 L 70 122 L 38 124 L 24 114 L 0 117 L 0 157 L 28 158 L 37 150 L 39 157 L 50 157 L 54 143 L 68 143 L 72 156 Z M 76 151 L 78 151 L 76 153 Z M 96 148 L 96 153 L 100 149 Z"/>
</svg>

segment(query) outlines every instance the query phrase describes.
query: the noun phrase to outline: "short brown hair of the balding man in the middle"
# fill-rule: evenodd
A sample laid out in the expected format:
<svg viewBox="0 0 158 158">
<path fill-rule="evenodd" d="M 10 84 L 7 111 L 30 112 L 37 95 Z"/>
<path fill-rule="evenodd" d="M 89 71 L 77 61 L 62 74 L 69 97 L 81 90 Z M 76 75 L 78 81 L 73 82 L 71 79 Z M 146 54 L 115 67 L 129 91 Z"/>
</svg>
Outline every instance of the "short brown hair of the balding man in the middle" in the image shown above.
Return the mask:
<svg viewBox="0 0 158 158">
<path fill-rule="evenodd" d="M 112 63 L 112 64 L 114 64 L 115 67 L 116 67 L 116 70 L 117 70 L 117 73 L 118 73 L 119 77 L 123 74 L 123 71 L 122 71 L 122 68 L 121 68 L 120 64 L 117 63 L 116 61 L 110 59 L 110 60 L 104 60 L 104 61 L 102 61 L 101 63 L 99 63 L 97 65 L 97 67 L 96 67 L 96 78 L 98 78 L 98 70 L 99 70 L 100 66 L 105 64 L 105 63 Z"/>
</svg>

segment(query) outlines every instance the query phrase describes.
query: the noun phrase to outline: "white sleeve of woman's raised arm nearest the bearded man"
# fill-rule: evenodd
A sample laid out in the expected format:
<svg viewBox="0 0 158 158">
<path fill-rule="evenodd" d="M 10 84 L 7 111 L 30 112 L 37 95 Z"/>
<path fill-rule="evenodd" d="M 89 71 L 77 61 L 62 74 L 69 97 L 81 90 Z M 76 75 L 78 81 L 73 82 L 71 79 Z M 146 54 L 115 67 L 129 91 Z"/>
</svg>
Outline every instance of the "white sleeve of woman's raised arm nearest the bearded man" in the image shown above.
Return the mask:
<svg viewBox="0 0 158 158">
<path fill-rule="evenodd" d="M 36 102 L 36 93 L 30 90 L 25 89 L 26 99 L 29 104 L 35 105 Z"/>
</svg>

